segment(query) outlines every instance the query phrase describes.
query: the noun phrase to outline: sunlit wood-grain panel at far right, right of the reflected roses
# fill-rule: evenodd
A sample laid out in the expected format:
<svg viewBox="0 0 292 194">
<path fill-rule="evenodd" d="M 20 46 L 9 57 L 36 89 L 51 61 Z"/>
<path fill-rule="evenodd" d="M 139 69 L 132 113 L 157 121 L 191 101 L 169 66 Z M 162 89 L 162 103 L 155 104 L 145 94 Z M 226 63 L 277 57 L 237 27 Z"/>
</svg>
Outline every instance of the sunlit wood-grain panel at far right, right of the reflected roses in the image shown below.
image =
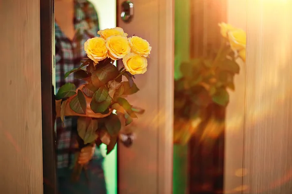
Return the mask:
<svg viewBox="0 0 292 194">
<path fill-rule="evenodd" d="M 247 0 L 244 194 L 292 191 L 291 0 Z"/>
</svg>

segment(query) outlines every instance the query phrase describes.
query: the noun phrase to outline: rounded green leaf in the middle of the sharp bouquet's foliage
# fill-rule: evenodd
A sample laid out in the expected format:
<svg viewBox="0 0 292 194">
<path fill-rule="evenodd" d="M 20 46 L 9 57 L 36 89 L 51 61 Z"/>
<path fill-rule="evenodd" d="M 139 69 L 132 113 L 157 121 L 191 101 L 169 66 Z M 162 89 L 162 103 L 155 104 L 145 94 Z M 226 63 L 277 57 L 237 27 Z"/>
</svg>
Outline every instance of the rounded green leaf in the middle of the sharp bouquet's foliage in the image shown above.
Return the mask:
<svg viewBox="0 0 292 194">
<path fill-rule="evenodd" d="M 107 96 L 105 96 L 106 94 Z M 111 103 L 111 97 L 108 91 L 99 89 L 94 93 L 91 103 L 90 103 L 90 107 L 94 113 L 104 113 L 109 108 L 110 103 Z"/>
</svg>

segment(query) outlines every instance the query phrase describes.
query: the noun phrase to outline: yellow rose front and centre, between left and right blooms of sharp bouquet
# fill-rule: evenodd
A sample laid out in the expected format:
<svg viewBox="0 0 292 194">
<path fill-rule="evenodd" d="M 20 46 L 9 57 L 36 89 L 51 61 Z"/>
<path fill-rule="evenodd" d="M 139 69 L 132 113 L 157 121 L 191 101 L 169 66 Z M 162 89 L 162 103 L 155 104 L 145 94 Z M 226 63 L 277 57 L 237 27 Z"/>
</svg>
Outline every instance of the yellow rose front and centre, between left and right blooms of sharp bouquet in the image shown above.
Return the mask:
<svg viewBox="0 0 292 194">
<path fill-rule="evenodd" d="M 131 51 L 128 39 L 125 36 L 110 36 L 106 40 L 108 56 L 112 60 L 124 58 Z"/>
</svg>

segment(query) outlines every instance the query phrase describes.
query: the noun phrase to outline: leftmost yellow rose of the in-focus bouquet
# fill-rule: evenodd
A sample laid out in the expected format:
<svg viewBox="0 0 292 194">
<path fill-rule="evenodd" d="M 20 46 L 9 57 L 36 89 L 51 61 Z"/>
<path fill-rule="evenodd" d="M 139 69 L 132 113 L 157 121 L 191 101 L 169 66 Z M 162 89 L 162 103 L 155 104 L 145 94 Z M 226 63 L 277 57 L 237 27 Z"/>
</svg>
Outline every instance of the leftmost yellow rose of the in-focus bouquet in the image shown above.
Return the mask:
<svg viewBox="0 0 292 194">
<path fill-rule="evenodd" d="M 87 56 L 97 64 L 108 57 L 106 41 L 103 38 L 90 38 L 84 43 L 84 50 Z"/>
</svg>

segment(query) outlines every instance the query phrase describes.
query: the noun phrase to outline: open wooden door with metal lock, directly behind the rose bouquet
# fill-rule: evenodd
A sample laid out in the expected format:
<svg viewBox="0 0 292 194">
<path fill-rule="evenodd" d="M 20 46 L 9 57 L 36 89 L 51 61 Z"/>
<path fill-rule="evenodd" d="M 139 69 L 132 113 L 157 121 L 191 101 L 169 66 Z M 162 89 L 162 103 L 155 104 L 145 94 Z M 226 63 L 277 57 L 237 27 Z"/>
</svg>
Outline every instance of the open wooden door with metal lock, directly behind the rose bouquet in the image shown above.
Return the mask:
<svg viewBox="0 0 292 194">
<path fill-rule="evenodd" d="M 135 139 L 129 148 L 118 145 L 119 194 L 169 194 L 172 181 L 173 110 L 173 1 L 131 0 L 134 16 L 130 23 L 120 18 L 117 26 L 152 46 L 147 72 L 137 75 L 140 91 L 128 97 L 134 106 L 146 109 L 129 128 Z"/>
</svg>

